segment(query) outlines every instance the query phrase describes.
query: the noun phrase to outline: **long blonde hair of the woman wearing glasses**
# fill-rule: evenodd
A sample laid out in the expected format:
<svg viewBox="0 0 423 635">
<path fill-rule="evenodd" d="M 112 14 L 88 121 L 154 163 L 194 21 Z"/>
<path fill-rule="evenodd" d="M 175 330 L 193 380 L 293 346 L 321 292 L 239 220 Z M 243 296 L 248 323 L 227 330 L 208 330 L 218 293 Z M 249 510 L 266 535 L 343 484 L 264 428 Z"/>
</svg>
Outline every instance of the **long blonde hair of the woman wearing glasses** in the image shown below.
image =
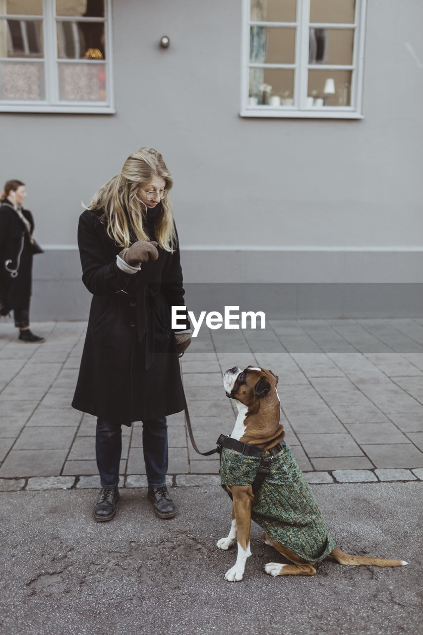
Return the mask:
<svg viewBox="0 0 423 635">
<path fill-rule="evenodd" d="M 164 189 L 171 189 L 173 179 L 161 154 L 152 148 L 141 148 L 126 159 L 119 174 L 100 187 L 86 208 L 101 212 L 100 220 L 107 223 L 107 234 L 117 246 L 129 247 L 134 236 L 137 240 L 149 241 L 143 223 L 147 206 L 137 194 L 154 177 L 163 178 Z M 177 236 L 168 195 L 162 199 L 161 207 L 156 220 L 156 239 L 162 249 L 173 251 Z"/>
</svg>

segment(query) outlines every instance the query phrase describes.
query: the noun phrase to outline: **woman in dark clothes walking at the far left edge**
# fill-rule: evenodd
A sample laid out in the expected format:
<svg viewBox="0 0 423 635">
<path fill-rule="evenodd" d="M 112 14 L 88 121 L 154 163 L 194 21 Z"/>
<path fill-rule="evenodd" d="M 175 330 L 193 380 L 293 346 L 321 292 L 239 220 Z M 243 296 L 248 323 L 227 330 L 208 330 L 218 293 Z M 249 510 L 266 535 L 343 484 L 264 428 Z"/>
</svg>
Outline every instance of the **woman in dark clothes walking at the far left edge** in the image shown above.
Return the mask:
<svg viewBox="0 0 423 635">
<path fill-rule="evenodd" d="M 29 303 L 32 288 L 34 219 L 23 205 L 27 192 L 17 179 L 4 185 L 0 200 L 0 315 L 13 310 L 19 342 L 39 344 L 43 337 L 29 328 Z M 39 250 L 40 251 L 40 250 Z"/>
</svg>

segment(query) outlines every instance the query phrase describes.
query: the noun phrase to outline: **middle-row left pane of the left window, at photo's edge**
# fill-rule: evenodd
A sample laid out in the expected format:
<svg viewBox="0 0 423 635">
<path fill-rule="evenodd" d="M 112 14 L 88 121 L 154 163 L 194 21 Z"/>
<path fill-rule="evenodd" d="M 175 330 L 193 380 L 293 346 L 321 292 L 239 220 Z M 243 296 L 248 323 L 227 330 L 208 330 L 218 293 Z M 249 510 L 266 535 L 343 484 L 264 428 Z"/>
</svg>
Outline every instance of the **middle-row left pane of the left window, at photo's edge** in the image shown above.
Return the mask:
<svg viewBox="0 0 423 635">
<path fill-rule="evenodd" d="M 43 22 L 0 20 L 0 57 L 43 57 Z"/>
</svg>

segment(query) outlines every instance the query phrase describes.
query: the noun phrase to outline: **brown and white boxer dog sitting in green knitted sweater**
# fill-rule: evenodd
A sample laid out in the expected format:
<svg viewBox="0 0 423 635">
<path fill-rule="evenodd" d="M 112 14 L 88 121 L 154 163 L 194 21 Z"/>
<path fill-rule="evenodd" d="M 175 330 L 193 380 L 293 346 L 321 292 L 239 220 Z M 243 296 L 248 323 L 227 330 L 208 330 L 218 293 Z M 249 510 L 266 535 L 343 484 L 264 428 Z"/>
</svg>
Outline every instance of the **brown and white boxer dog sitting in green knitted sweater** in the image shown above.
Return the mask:
<svg viewBox="0 0 423 635">
<path fill-rule="evenodd" d="M 229 535 L 218 540 L 217 547 L 229 549 L 238 534 L 238 556 L 225 580 L 234 582 L 243 578 L 246 559 L 251 556 L 252 518 L 265 529 L 265 544 L 292 563 L 268 563 L 264 568 L 269 575 L 315 575 L 314 565 L 326 556 L 341 565 L 407 565 L 403 560 L 351 556 L 335 547 L 304 474 L 283 441 L 285 432 L 276 391 L 278 377 L 257 366 L 248 366 L 243 371 L 235 366 L 224 373 L 223 379 L 227 396 L 235 400 L 238 408 L 230 438 L 241 442 L 238 445 L 228 442 L 238 450 L 222 443 L 220 478 L 232 498 L 232 525 Z M 252 481 L 260 462 L 257 458 L 260 449 L 265 456 L 271 456 L 271 469 L 254 494 Z"/>
</svg>

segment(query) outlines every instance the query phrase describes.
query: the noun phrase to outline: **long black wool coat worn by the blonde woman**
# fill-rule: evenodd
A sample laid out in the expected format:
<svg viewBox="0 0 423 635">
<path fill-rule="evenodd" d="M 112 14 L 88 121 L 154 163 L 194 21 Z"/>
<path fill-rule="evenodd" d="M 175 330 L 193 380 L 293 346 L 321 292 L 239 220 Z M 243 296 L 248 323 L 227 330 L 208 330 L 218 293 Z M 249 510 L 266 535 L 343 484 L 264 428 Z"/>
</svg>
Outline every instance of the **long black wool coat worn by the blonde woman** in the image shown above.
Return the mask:
<svg viewBox="0 0 423 635">
<path fill-rule="evenodd" d="M 153 240 L 148 215 L 147 232 Z M 184 305 L 179 249 L 158 248 L 158 260 L 127 274 L 116 264 L 122 248 L 88 210 L 79 218 L 78 244 L 93 298 L 72 406 L 124 425 L 183 410 L 170 318 L 172 305 Z"/>
</svg>

